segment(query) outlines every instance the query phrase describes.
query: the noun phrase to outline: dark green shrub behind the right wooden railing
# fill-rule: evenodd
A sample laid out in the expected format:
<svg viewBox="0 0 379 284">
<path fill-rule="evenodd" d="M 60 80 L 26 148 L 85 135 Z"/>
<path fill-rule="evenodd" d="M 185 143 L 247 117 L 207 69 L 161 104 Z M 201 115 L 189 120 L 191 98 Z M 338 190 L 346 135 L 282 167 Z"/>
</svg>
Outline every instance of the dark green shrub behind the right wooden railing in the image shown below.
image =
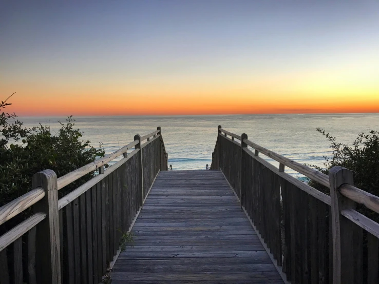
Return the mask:
<svg viewBox="0 0 379 284">
<path fill-rule="evenodd" d="M 371 130 L 369 134 L 359 133 L 351 146 L 338 143 L 336 137 L 325 133 L 325 130 L 317 128 L 317 131 L 330 141 L 333 149 L 331 157 L 324 156 L 324 168 L 312 166 L 320 172 L 329 174 L 329 170 L 335 166 L 349 169 L 354 175 L 354 186 L 379 196 L 379 135 Z M 313 180 L 308 180 L 309 185 L 330 195 L 330 190 Z M 379 222 L 379 214 L 372 212 L 362 205 L 357 209 L 364 215 Z"/>
</svg>

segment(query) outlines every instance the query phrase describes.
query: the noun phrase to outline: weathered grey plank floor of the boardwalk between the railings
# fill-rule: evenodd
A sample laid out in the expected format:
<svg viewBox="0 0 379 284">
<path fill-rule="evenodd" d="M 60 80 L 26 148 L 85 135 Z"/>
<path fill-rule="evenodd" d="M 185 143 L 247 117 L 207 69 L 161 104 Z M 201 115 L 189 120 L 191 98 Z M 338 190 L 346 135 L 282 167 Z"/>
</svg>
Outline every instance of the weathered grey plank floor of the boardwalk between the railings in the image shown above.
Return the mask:
<svg viewBox="0 0 379 284">
<path fill-rule="evenodd" d="M 220 171 L 160 172 L 112 283 L 283 283 Z"/>
</svg>

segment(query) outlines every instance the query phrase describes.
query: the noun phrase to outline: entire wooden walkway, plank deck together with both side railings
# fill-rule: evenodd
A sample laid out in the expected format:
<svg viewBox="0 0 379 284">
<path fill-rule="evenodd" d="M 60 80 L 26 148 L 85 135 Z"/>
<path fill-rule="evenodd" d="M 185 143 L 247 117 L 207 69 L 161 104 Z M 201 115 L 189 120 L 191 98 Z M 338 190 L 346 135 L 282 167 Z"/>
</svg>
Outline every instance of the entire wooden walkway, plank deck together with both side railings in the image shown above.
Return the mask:
<svg viewBox="0 0 379 284">
<path fill-rule="evenodd" d="M 158 127 L 66 175 L 35 173 L 0 207 L 0 284 L 379 283 L 379 197 L 350 170 L 324 174 L 221 126 L 211 170 L 167 164 Z"/>
</svg>

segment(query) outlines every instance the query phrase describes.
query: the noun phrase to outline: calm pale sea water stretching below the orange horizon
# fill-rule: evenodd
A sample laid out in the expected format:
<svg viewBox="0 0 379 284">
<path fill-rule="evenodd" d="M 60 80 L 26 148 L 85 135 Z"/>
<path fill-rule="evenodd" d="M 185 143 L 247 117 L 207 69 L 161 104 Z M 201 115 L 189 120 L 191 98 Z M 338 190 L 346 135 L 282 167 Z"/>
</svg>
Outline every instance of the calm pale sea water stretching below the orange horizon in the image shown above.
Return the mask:
<svg viewBox="0 0 379 284">
<path fill-rule="evenodd" d="M 65 117 L 21 117 L 25 126 L 50 124 L 52 132 Z M 162 127 L 168 163 L 174 170 L 205 169 L 211 165 L 217 126 L 241 135 L 299 163 L 323 166 L 330 155 L 328 140 L 316 131 L 323 128 L 338 141 L 351 144 L 359 132 L 379 130 L 379 114 L 277 114 L 202 116 L 78 116 L 76 126 L 92 146 L 103 143 L 106 153 L 118 150 L 135 134 Z M 270 160 L 270 159 L 268 159 Z M 277 163 L 270 160 L 274 165 Z M 296 176 L 296 174 L 287 170 Z M 298 175 L 299 176 L 299 175 Z"/>
</svg>

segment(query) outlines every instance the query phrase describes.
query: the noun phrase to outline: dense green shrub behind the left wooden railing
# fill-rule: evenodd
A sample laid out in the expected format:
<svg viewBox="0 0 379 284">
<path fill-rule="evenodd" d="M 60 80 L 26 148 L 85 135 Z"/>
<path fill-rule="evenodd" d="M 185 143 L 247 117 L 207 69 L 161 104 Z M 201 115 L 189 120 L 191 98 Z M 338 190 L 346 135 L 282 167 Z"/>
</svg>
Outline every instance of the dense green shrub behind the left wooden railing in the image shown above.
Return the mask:
<svg viewBox="0 0 379 284">
<path fill-rule="evenodd" d="M 1 102 L 0 111 L 11 105 L 8 99 Z M 31 190 L 31 178 L 36 172 L 51 169 L 60 177 L 105 155 L 101 144 L 94 148 L 89 145 L 90 141 L 81 140 L 82 133 L 74 128 L 72 116 L 68 116 L 64 124 L 60 122 L 61 128 L 55 134 L 50 132 L 49 126 L 41 124 L 25 128 L 16 117 L 4 111 L 0 116 L 3 136 L 0 140 L 0 206 Z M 60 190 L 60 196 L 94 174 L 91 172 Z M 25 214 L 28 212 L 22 215 Z"/>
</svg>

